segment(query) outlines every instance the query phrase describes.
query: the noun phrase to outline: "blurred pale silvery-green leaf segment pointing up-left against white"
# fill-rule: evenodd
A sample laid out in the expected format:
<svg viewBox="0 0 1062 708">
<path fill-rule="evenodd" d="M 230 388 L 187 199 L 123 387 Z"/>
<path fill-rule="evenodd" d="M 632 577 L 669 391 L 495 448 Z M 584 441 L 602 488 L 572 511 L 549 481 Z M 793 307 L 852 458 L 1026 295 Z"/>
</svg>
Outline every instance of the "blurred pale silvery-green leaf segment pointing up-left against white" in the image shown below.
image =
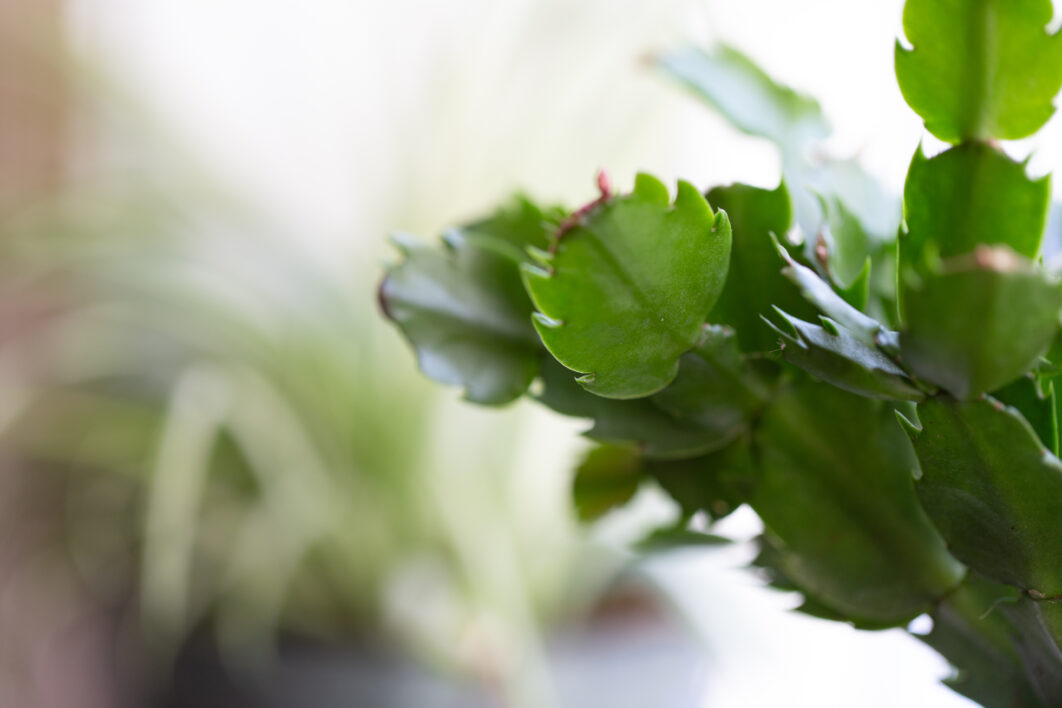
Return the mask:
<svg viewBox="0 0 1062 708">
<path fill-rule="evenodd" d="M 736 49 L 680 49 L 662 55 L 660 65 L 735 127 L 785 152 L 803 151 L 829 135 L 816 100 L 778 85 Z"/>
</svg>

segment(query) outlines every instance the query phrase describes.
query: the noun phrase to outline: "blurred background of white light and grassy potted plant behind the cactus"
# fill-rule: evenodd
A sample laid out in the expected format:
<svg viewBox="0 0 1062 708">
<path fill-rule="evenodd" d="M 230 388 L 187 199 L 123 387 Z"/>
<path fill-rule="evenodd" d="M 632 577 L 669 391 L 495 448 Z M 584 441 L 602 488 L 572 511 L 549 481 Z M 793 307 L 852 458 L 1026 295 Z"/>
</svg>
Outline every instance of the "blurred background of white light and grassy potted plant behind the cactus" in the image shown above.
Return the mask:
<svg viewBox="0 0 1062 708">
<path fill-rule="evenodd" d="M 747 545 L 635 563 L 652 490 L 579 528 L 581 426 L 423 381 L 374 300 L 388 232 L 516 189 L 776 184 L 646 61 L 690 41 L 898 192 L 901 8 L 0 0 L 0 705 L 969 705 L 903 633 L 789 612 Z M 1015 153 L 1051 170 L 1060 131 Z"/>
</svg>

